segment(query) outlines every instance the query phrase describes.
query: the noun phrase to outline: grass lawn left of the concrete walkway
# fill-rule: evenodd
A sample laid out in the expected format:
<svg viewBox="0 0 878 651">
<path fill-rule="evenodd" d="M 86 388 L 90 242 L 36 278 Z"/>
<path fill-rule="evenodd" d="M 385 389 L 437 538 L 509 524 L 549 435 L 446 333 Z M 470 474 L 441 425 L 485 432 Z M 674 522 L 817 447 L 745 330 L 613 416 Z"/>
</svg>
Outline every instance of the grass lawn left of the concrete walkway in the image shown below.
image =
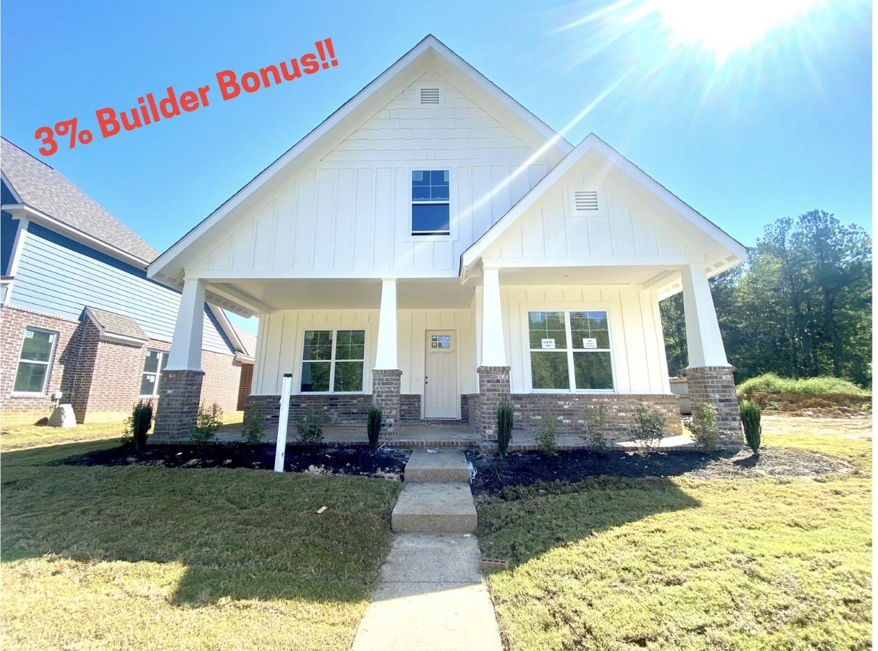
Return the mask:
<svg viewBox="0 0 878 651">
<path fill-rule="evenodd" d="M 349 647 L 399 483 L 50 465 L 118 437 L 0 438 L 4 648 Z"/>
</svg>

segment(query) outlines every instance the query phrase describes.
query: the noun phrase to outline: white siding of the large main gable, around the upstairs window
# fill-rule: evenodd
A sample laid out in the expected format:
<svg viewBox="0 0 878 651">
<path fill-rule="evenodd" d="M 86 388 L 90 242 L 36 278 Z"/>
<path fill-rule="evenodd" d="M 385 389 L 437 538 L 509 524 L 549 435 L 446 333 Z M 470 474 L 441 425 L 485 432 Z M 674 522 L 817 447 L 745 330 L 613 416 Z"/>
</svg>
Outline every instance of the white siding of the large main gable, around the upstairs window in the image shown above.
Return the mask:
<svg viewBox="0 0 878 651">
<path fill-rule="evenodd" d="M 422 85 L 441 89 L 440 106 L 420 104 Z M 187 265 L 187 274 L 380 269 L 457 275 L 460 254 L 558 163 L 531 161 L 532 154 L 440 75 L 427 73 L 220 234 Z M 413 238 L 413 169 L 450 170 L 450 237 Z"/>
</svg>

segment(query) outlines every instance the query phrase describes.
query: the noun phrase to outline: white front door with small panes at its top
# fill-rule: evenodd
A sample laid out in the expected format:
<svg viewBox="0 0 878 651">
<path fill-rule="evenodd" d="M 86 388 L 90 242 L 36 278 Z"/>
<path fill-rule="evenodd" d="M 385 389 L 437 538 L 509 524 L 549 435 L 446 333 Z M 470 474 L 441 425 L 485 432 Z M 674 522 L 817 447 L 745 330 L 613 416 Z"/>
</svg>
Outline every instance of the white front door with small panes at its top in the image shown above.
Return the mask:
<svg viewBox="0 0 878 651">
<path fill-rule="evenodd" d="M 424 361 L 424 418 L 456 419 L 457 333 L 428 330 Z"/>
</svg>

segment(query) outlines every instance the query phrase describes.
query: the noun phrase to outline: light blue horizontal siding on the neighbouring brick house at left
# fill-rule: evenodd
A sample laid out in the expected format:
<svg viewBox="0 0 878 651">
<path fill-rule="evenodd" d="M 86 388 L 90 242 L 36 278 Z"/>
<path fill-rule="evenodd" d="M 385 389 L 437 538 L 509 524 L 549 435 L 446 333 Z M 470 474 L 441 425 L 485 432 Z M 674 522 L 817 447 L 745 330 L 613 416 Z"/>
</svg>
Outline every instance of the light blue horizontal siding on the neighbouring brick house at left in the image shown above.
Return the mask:
<svg viewBox="0 0 878 651">
<path fill-rule="evenodd" d="M 133 318 L 150 338 L 169 341 L 180 294 L 148 280 L 142 269 L 30 224 L 10 303 L 71 319 L 80 318 L 89 305 Z M 203 337 L 206 350 L 232 352 L 206 311 Z"/>
</svg>

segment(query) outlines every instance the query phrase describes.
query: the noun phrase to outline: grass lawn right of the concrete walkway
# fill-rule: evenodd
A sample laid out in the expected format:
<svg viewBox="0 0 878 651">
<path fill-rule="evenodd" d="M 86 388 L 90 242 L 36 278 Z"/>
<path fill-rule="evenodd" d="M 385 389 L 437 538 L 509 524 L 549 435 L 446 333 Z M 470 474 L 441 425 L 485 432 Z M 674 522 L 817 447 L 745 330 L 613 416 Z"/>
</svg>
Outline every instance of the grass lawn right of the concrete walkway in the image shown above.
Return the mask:
<svg viewBox="0 0 878 651">
<path fill-rule="evenodd" d="M 479 498 L 484 553 L 514 563 L 488 581 L 507 647 L 871 647 L 870 437 L 847 434 L 848 419 L 784 433 L 795 420 L 765 419 L 764 445 L 835 454 L 855 474 L 600 478 Z"/>
</svg>

